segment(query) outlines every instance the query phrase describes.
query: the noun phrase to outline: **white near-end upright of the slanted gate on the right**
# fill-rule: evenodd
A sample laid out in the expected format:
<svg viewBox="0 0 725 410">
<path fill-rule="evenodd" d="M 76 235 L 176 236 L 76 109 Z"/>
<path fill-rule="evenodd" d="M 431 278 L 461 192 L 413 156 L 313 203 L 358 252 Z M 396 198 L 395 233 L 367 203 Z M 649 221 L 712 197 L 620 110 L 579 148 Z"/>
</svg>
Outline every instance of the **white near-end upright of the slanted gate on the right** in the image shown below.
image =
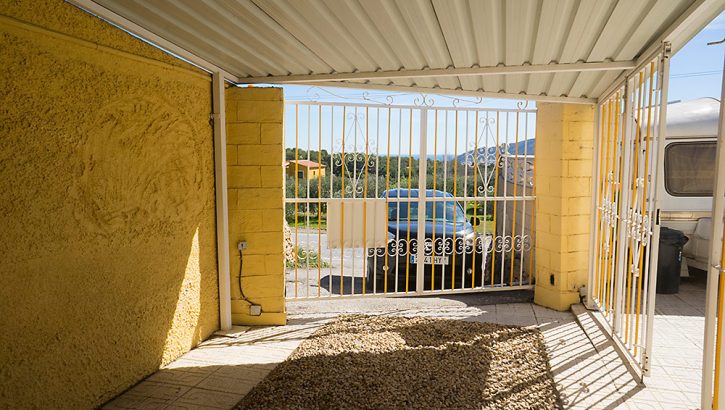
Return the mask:
<svg viewBox="0 0 725 410">
<path fill-rule="evenodd" d="M 649 262 L 649 284 L 647 292 L 647 316 L 645 331 L 644 357 L 642 360 L 643 375 L 649 373 L 652 358 L 652 331 L 654 328 L 655 298 L 657 297 L 657 259 L 660 249 L 660 181 L 664 178 L 664 151 L 665 133 L 667 132 L 667 93 L 669 89 L 670 76 L 670 44 L 662 44 L 662 55 L 660 60 L 660 72 L 658 82 L 660 83 L 659 118 L 657 119 L 657 156 L 654 158 L 655 178 L 652 238 L 650 240 L 650 262 Z M 652 75 L 652 73 L 650 73 Z"/>
</svg>

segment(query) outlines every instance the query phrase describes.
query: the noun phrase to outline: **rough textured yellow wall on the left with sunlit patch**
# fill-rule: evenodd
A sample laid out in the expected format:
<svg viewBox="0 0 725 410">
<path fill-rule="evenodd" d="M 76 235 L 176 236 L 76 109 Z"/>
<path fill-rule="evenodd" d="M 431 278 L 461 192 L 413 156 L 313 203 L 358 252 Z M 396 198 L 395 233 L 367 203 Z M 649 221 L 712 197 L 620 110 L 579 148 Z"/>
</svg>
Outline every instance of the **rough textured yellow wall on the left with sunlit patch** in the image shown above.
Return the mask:
<svg viewBox="0 0 725 410">
<path fill-rule="evenodd" d="M 218 328 L 211 82 L 0 2 L 0 408 L 91 408 Z"/>
</svg>

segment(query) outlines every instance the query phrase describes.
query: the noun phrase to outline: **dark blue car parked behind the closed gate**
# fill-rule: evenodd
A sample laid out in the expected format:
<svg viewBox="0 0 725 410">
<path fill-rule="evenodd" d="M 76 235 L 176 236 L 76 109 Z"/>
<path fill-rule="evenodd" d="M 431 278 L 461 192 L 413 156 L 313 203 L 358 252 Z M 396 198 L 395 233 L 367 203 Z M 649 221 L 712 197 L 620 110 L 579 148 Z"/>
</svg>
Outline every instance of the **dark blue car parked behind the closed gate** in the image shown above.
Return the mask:
<svg viewBox="0 0 725 410">
<path fill-rule="evenodd" d="M 416 290 L 421 229 L 425 237 L 424 290 L 480 286 L 490 238 L 476 233 L 478 219 L 469 220 L 451 194 L 426 190 L 425 220 L 419 221 L 418 194 L 417 189 L 383 192 L 382 197 L 388 199 L 388 245 L 368 252 L 368 289 L 378 293 Z"/>
</svg>

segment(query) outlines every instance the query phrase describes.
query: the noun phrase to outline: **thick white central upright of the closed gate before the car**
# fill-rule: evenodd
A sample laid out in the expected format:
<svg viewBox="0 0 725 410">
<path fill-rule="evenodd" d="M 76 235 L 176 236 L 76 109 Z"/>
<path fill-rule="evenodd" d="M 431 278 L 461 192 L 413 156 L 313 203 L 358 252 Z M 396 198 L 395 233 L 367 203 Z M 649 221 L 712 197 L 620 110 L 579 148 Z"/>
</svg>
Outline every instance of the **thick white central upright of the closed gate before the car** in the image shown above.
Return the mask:
<svg viewBox="0 0 725 410">
<path fill-rule="evenodd" d="M 411 114 L 412 115 L 412 114 Z M 420 110 L 420 148 L 418 156 L 418 264 L 415 272 L 415 293 L 423 293 L 425 277 L 425 198 L 426 181 L 428 179 L 428 108 Z M 432 268 L 435 261 L 431 260 Z"/>
</svg>

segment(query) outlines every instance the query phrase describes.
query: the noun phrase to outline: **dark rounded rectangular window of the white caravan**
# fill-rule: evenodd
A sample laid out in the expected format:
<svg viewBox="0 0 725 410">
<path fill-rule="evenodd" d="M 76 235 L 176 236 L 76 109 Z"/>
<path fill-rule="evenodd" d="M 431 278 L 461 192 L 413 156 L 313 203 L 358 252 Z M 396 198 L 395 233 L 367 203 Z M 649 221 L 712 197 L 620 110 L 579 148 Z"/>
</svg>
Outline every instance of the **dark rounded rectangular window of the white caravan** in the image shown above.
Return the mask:
<svg viewBox="0 0 725 410">
<path fill-rule="evenodd" d="M 678 142 L 665 148 L 665 189 L 672 196 L 712 196 L 715 142 Z"/>
</svg>

